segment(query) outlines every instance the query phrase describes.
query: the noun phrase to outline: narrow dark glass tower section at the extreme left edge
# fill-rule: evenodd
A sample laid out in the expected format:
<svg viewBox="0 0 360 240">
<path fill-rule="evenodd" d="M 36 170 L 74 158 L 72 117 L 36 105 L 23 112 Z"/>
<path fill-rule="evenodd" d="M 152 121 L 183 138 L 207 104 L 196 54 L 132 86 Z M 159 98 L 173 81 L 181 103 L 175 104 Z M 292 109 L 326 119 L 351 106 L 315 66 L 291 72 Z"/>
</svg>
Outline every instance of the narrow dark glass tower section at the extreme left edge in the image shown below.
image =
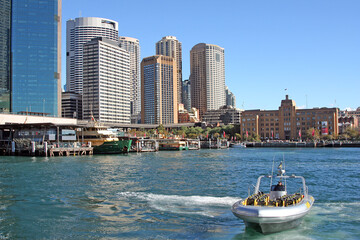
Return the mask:
<svg viewBox="0 0 360 240">
<path fill-rule="evenodd" d="M 0 0 L 0 112 L 10 111 L 11 0 Z"/>
</svg>

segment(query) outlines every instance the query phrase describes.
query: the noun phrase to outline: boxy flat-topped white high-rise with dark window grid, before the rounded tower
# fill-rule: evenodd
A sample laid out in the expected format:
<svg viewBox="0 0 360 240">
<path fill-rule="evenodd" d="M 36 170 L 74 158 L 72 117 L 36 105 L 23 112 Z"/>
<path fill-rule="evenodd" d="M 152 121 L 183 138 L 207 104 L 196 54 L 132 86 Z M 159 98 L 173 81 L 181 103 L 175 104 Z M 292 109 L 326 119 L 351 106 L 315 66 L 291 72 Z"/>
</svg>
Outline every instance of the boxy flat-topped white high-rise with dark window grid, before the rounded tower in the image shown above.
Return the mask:
<svg viewBox="0 0 360 240">
<path fill-rule="evenodd" d="M 84 44 L 83 118 L 130 123 L 130 56 L 118 43 L 97 37 Z"/>
</svg>

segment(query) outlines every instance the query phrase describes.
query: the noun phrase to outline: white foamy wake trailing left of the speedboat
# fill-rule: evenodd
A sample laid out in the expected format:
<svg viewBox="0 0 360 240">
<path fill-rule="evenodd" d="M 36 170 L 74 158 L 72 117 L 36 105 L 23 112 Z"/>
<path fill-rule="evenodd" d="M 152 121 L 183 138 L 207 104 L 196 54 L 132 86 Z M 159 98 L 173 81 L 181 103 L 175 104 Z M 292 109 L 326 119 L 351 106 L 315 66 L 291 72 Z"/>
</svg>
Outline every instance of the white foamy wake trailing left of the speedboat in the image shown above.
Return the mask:
<svg viewBox="0 0 360 240">
<path fill-rule="evenodd" d="M 215 217 L 228 210 L 240 198 L 211 196 L 162 195 L 144 192 L 121 192 L 118 195 L 129 200 L 145 201 L 158 211 L 176 214 L 192 214 Z"/>
</svg>

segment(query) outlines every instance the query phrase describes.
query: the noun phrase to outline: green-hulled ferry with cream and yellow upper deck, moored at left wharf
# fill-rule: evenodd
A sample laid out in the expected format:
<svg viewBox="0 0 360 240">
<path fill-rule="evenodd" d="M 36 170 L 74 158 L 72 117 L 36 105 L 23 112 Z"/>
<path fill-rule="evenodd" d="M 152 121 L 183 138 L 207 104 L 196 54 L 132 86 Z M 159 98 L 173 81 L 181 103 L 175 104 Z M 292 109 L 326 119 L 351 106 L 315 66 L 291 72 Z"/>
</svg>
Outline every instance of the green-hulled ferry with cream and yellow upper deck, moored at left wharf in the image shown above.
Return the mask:
<svg viewBox="0 0 360 240">
<path fill-rule="evenodd" d="M 91 143 L 94 154 L 128 153 L 132 141 L 129 138 L 119 139 L 115 132 L 98 124 L 87 127 L 81 137 L 84 142 Z"/>
</svg>

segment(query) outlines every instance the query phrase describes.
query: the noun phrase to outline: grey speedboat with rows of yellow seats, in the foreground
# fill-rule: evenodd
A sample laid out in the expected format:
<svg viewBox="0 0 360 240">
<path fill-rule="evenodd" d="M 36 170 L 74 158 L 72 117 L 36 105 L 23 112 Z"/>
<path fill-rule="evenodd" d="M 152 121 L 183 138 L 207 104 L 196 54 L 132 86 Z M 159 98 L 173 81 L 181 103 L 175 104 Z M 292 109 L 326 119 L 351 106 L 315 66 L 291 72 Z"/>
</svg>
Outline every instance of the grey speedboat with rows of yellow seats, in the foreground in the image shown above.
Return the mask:
<svg viewBox="0 0 360 240">
<path fill-rule="evenodd" d="M 260 191 L 263 178 L 270 178 L 270 192 Z M 278 183 L 272 185 L 272 180 Z M 301 179 L 302 189 L 288 194 L 286 181 Z M 299 180 L 298 180 L 299 181 Z M 237 201 L 232 206 L 233 214 L 242 219 L 246 227 L 252 227 L 260 232 L 274 233 L 295 228 L 300 225 L 302 218 L 310 211 L 315 199 L 308 194 L 305 178 L 302 176 L 286 176 L 282 169 L 282 162 L 276 176 L 262 175 L 258 178 L 254 194 L 245 200 Z"/>
</svg>

